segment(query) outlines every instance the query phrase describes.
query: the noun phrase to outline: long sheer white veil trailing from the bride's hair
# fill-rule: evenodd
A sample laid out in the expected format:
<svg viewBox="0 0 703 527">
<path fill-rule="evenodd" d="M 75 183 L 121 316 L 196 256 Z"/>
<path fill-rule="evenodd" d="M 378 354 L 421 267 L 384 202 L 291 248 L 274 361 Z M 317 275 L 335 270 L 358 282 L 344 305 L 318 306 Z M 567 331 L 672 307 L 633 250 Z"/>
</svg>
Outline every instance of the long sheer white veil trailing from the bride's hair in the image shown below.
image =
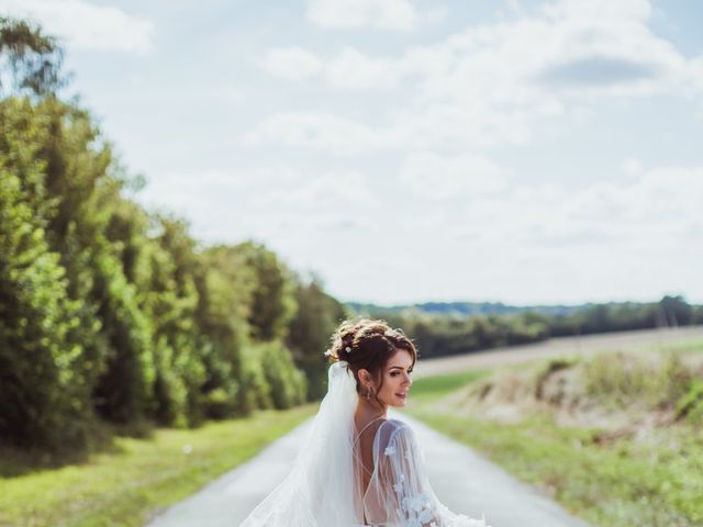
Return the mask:
<svg viewBox="0 0 703 527">
<path fill-rule="evenodd" d="M 362 524 L 352 457 L 356 381 L 347 366 L 341 360 L 330 367 L 327 393 L 313 418 L 305 447 L 288 476 L 239 527 Z"/>
</svg>

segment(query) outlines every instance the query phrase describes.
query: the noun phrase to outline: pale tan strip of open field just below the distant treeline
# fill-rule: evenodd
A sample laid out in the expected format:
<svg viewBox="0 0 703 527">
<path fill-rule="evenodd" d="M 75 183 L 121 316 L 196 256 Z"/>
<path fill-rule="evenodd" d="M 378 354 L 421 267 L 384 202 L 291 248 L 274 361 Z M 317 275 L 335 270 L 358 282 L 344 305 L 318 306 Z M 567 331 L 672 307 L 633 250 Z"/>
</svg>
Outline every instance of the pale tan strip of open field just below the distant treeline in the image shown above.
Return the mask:
<svg viewBox="0 0 703 527">
<path fill-rule="evenodd" d="M 550 338 L 544 343 L 494 348 L 451 357 L 421 359 L 415 378 L 518 365 L 551 357 L 587 356 L 607 350 L 632 350 L 646 347 L 665 349 L 669 345 L 695 339 L 703 339 L 703 326 Z"/>
</svg>

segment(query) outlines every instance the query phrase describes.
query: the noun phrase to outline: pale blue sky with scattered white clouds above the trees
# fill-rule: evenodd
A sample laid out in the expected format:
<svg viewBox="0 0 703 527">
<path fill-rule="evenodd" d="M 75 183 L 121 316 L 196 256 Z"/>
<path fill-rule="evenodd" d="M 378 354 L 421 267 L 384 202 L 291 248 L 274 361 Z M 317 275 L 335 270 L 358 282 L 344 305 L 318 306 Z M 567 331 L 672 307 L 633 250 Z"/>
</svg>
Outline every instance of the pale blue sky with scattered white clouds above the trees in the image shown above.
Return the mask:
<svg viewBox="0 0 703 527">
<path fill-rule="evenodd" d="M 694 0 L 0 0 L 136 199 L 341 301 L 703 303 Z"/>
</svg>

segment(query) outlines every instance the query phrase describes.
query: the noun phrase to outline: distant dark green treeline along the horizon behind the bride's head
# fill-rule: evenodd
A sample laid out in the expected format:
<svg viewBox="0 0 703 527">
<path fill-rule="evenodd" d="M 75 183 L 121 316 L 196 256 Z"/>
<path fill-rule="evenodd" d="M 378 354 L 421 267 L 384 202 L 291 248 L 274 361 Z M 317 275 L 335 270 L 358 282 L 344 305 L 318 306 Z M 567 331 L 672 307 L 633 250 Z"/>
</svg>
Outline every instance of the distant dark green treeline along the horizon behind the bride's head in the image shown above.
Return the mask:
<svg viewBox="0 0 703 527">
<path fill-rule="evenodd" d="M 432 304 L 431 311 L 423 310 L 424 305 L 427 304 L 399 309 L 350 304 L 357 315 L 382 317 L 404 328 L 424 358 L 536 343 L 549 337 L 703 324 L 703 306 L 690 305 L 681 296 L 665 296 L 651 303 L 587 304 L 560 310 L 558 314 L 521 309 L 514 314 L 466 316 L 453 312 L 447 315 L 438 304 Z"/>
</svg>

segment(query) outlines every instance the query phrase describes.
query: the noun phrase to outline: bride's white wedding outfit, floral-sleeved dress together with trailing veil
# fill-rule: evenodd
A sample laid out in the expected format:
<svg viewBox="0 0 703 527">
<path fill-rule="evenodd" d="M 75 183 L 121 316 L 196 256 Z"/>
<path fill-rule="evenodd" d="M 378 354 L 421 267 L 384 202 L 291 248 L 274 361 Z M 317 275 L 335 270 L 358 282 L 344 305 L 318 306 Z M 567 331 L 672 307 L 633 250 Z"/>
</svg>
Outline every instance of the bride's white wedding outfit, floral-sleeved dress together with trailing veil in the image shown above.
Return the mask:
<svg viewBox="0 0 703 527">
<path fill-rule="evenodd" d="M 405 423 L 378 418 L 356 430 L 356 381 L 344 361 L 330 384 L 289 475 L 239 527 L 490 527 L 455 514 L 429 485 Z M 376 427 L 371 456 L 361 441 Z"/>
</svg>

